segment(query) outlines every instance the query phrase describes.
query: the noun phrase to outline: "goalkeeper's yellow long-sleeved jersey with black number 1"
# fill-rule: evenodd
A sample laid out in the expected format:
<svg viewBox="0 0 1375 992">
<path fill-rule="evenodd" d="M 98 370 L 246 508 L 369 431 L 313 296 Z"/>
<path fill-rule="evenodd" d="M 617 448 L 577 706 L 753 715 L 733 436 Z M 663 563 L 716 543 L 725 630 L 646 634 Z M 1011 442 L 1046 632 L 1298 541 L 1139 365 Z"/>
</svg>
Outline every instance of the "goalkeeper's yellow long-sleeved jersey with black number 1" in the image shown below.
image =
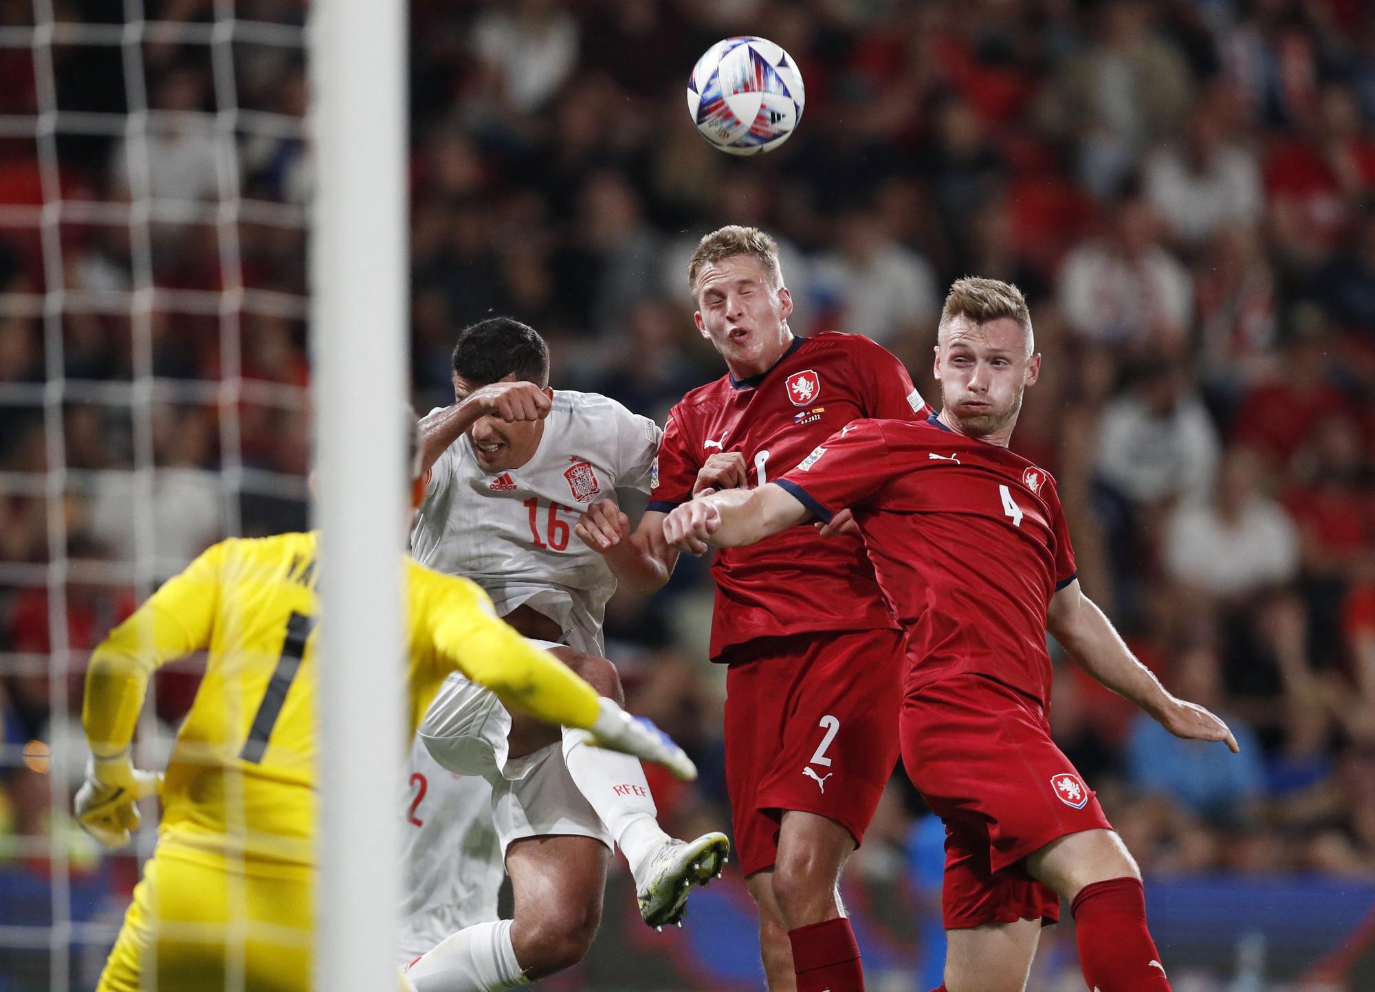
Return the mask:
<svg viewBox="0 0 1375 992">
<path fill-rule="evenodd" d="M 221 541 L 92 654 L 82 723 L 92 752 L 111 756 L 133 736 L 154 669 L 208 653 L 166 768 L 161 845 L 263 867 L 314 863 L 316 554 L 315 533 Z M 593 688 L 498 620 L 476 584 L 408 558 L 404 569 L 411 732 L 454 670 L 550 723 L 593 724 Z"/>
</svg>

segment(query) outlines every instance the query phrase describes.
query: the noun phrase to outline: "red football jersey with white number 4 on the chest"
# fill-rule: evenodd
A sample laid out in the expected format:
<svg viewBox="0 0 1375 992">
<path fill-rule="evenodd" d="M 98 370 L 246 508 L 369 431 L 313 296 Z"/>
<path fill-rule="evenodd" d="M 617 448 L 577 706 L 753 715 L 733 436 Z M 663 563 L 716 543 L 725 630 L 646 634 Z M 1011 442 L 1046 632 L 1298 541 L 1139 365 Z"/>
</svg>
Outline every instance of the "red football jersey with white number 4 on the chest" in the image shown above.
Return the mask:
<svg viewBox="0 0 1375 992">
<path fill-rule="evenodd" d="M 777 482 L 822 519 L 854 511 L 909 690 L 976 672 L 1050 702 L 1046 610 L 1075 570 L 1049 473 L 931 416 L 851 423 Z"/>
</svg>

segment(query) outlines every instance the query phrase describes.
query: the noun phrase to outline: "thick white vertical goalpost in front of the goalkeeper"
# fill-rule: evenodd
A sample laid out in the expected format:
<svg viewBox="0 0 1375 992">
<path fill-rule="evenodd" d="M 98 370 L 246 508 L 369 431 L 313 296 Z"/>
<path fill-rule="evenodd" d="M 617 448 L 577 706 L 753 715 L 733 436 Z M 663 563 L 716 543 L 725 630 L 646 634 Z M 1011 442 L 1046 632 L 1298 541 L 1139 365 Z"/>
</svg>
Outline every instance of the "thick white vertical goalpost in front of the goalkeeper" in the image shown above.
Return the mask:
<svg viewBox="0 0 1375 992">
<path fill-rule="evenodd" d="M 407 356 L 406 5 L 329 0 L 309 30 L 311 343 L 320 480 L 315 987 L 396 987 Z"/>
</svg>

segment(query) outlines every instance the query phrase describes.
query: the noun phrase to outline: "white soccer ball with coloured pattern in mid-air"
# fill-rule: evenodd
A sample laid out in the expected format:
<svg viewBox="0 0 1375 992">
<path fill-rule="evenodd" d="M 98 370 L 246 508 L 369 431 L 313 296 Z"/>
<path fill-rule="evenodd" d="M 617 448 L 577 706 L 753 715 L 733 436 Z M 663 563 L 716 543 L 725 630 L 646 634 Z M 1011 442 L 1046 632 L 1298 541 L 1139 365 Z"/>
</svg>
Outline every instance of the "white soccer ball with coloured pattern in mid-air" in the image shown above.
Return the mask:
<svg viewBox="0 0 1375 992">
<path fill-rule="evenodd" d="M 792 56 L 754 36 L 718 41 L 688 80 L 693 124 L 732 155 L 758 155 L 786 142 L 802 120 L 804 99 Z"/>
</svg>

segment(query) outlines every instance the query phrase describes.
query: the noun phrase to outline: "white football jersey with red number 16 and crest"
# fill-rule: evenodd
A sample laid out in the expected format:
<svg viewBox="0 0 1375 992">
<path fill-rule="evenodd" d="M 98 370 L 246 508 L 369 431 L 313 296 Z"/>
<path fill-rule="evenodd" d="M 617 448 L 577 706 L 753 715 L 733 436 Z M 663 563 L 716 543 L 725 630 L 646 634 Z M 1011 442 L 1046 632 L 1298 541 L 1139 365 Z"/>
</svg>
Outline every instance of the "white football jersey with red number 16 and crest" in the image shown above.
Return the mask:
<svg viewBox="0 0 1375 992">
<path fill-rule="evenodd" d="M 569 647 L 601 655 L 616 580 L 573 525 L 617 488 L 649 492 L 661 434 L 612 398 L 554 390 L 539 447 L 520 469 L 488 474 L 466 436 L 439 456 L 415 514 L 411 554 L 472 578 L 499 616 L 529 606 L 558 624 Z"/>
</svg>

